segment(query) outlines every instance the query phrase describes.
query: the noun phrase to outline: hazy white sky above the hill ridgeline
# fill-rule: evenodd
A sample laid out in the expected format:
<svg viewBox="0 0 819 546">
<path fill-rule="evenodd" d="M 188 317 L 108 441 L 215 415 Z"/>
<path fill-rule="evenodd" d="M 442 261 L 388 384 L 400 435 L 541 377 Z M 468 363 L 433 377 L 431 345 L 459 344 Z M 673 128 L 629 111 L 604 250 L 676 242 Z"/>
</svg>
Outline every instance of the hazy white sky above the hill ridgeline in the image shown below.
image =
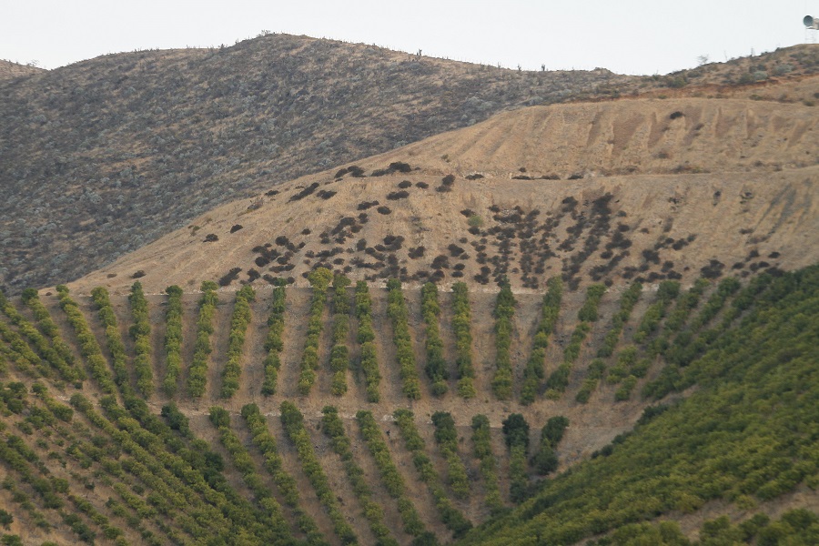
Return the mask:
<svg viewBox="0 0 819 546">
<path fill-rule="evenodd" d="M 262 29 L 524 69 L 665 74 L 810 40 L 819 0 L 0 0 L 0 58 L 55 68 Z M 819 36 L 815 39 L 819 41 Z"/>
</svg>

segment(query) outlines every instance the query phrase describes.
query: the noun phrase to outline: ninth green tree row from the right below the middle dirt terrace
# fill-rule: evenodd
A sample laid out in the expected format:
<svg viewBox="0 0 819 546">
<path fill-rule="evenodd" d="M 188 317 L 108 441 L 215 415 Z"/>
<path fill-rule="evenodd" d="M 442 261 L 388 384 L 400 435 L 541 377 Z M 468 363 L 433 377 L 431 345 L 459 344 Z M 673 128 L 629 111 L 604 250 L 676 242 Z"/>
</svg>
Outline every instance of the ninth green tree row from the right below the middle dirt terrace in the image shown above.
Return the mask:
<svg viewBox="0 0 819 546">
<path fill-rule="evenodd" d="M 242 407 L 242 418 L 248 424 L 248 429 L 253 437 L 253 443 L 264 457 L 265 469 L 276 483 L 278 492 L 288 508 L 296 516 L 296 524 L 299 531 L 307 536 L 307 542 L 311 546 L 323 546 L 327 544 L 319 531 L 319 527 L 310 515 L 301 508 L 299 501 L 298 484 L 296 480 L 284 468 L 284 462 L 278 452 L 278 442 L 276 437 L 270 434 L 268 423 L 256 404 L 246 404 Z"/>
</svg>

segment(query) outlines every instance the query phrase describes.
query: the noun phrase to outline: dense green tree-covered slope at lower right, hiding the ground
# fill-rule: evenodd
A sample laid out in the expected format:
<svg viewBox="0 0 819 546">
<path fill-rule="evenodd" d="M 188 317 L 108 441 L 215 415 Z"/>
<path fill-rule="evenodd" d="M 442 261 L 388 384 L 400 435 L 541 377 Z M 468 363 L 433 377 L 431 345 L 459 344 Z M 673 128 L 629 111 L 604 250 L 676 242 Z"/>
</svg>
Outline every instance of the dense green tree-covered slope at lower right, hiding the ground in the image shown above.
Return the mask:
<svg viewBox="0 0 819 546">
<path fill-rule="evenodd" d="M 671 391 L 697 385 L 692 394 L 647 410 L 631 433 L 464 543 L 578 543 L 714 501 L 750 511 L 819 487 L 819 267 L 758 278 L 724 309 L 738 313 L 728 327 L 723 318 L 703 330 L 697 339 L 715 337 L 676 370 Z"/>
</svg>

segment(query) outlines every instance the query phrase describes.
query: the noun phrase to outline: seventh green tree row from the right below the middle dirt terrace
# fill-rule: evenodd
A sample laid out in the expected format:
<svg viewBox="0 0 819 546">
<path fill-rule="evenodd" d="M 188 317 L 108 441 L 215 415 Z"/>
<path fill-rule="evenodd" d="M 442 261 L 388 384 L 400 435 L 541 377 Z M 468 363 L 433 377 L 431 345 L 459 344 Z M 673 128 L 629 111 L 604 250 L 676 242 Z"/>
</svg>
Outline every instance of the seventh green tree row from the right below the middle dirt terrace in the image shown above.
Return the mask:
<svg viewBox="0 0 819 546">
<path fill-rule="evenodd" d="M 369 489 L 364 470 L 353 458 L 351 443 L 344 431 L 339 410 L 333 406 L 325 406 L 321 413 L 321 430 L 330 439 L 333 451 L 339 455 L 344 464 L 344 471 L 352 485 L 353 493 L 359 500 L 364 518 L 369 523 L 369 530 L 376 537 L 376 544 L 378 546 L 398 546 L 398 541 L 392 537 L 389 527 L 384 523 L 383 509 L 378 502 L 372 499 L 372 490 Z"/>
</svg>

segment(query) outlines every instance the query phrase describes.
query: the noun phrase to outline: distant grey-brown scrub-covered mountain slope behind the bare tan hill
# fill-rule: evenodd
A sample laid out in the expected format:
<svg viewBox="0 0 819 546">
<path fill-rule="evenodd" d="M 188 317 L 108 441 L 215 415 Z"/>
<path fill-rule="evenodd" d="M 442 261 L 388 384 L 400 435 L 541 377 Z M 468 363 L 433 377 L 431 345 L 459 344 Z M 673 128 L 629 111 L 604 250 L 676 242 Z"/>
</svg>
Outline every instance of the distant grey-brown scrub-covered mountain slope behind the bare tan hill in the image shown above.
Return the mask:
<svg viewBox="0 0 819 546">
<path fill-rule="evenodd" d="M 0 83 L 0 285 L 76 278 L 261 187 L 631 79 L 268 35 Z"/>
</svg>

